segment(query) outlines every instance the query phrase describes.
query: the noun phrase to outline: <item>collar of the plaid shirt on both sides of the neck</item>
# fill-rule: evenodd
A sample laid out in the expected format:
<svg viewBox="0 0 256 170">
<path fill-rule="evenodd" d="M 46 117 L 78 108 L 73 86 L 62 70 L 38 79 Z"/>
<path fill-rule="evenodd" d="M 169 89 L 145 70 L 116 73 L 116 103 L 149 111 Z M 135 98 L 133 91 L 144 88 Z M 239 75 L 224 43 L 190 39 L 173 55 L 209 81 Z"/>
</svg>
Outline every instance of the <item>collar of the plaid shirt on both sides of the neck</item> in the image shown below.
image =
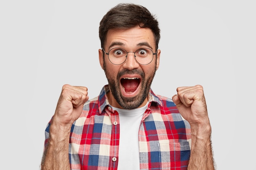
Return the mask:
<svg viewBox="0 0 256 170">
<path fill-rule="evenodd" d="M 101 89 L 101 93 L 99 95 L 99 114 L 101 114 L 103 112 L 103 110 L 108 106 L 111 107 L 112 106 L 109 104 L 108 102 L 108 96 L 107 93 L 110 92 L 108 85 L 105 85 L 102 89 Z M 152 91 L 152 89 L 150 88 L 150 91 L 148 93 L 148 108 L 150 107 L 152 102 L 155 102 L 157 104 L 159 104 L 160 106 L 162 106 L 162 102 L 159 99 L 159 97 L 157 97 L 157 95 L 155 95 L 155 93 Z"/>
</svg>

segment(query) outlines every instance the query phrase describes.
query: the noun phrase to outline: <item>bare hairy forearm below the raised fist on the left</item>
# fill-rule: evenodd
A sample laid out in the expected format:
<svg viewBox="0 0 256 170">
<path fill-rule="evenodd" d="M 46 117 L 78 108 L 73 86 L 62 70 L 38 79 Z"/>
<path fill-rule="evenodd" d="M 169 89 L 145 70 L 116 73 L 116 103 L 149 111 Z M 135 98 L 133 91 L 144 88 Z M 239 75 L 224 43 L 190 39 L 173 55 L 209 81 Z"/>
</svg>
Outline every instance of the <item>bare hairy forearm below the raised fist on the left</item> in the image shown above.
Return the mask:
<svg viewBox="0 0 256 170">
<path fill-rule="evenodd" d="M 70 170 L 68 157 L 70 128 L 54 121 L 50 126 L 48 146 L 44 152 L 41 170 Z"/>
</svg>

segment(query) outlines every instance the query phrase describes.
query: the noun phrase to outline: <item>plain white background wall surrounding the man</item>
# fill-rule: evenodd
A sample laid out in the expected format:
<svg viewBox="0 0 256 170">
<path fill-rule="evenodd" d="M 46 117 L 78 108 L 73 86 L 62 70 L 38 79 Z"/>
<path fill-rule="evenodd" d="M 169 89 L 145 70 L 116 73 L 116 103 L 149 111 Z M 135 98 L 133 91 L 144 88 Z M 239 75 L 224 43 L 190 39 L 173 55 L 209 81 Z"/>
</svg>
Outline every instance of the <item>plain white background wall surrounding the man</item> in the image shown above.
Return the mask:
<svg viewBox="0 0 256 170">
<path fill-rule="evenodd" d="M 253 0 L 1 1 L 1 169 L 39 169 L 63 84 L 87 86 L 91 98 L 107 84 L 98 28 L 119 2 L 141 4 L 159 20 L 153 91 L 172 97 L 178 86 L 201 84 L 218 170 L 256 170 Z"/>
</svg>

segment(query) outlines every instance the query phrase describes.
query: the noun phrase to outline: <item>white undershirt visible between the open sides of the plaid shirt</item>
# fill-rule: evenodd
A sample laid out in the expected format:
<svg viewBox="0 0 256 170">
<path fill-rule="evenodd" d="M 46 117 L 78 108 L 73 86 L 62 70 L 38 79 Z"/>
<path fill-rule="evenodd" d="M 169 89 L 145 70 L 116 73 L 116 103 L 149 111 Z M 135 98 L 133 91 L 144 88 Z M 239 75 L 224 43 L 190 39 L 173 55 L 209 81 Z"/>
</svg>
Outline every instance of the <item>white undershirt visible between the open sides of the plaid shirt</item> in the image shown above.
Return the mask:
<svg viewBox="0 0 256 170">
<path fill-rule="evenodd" d="M 118 170 L 139 170 L 139 126 L 147 106 L 133 110 L 113 107 L 120 120 Z"/>
</svg>

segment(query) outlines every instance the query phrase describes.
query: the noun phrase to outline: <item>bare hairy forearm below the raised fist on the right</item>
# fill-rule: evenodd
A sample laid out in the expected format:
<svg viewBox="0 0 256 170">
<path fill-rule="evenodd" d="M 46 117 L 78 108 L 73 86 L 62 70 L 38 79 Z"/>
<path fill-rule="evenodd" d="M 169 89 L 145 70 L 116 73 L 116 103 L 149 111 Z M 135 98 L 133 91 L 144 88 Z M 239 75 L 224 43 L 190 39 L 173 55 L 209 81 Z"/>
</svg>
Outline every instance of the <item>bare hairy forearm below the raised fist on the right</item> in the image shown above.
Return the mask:
<svg viewBox="0 0 256 170">
<path fill-rule="evenodd" d="M 192 145 L 188 170 L 214 170 L 211 126 L 191 128 Z"/>
</svg>

